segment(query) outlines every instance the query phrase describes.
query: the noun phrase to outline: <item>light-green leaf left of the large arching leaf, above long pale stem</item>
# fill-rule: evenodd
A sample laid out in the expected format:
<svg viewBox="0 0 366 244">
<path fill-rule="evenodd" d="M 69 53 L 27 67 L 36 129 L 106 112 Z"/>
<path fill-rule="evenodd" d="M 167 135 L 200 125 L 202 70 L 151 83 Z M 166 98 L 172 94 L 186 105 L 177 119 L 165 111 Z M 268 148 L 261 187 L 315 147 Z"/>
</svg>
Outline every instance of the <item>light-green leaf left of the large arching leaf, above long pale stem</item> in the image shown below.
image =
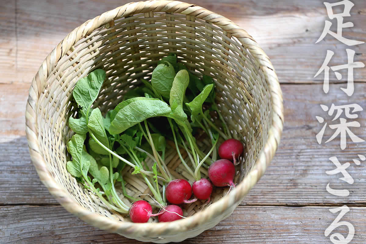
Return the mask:
<svg viewBox="0 0 366 244">
<path fill-rule="evenodd" d="M 88 128 L 104 146 L 109 148 L 109 140 L 105 133 L 103 120 L 99 108 L 93 109 L 89 116 Z"/>
</svg>

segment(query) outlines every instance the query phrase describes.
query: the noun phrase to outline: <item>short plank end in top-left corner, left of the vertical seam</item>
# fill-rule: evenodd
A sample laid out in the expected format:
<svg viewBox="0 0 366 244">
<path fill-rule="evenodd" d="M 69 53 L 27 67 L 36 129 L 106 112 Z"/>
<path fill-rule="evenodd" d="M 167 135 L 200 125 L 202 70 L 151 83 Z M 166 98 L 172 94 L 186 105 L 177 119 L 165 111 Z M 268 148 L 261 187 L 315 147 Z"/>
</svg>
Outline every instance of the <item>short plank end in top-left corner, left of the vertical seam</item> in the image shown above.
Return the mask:
<svg viewBox="0 0 366 244">
<path fill-rule="evenodd" d="M 0 23 L 0 82 L 12 82 L 16 77 L 15 1 L 1 1 Z"/>
</svg>

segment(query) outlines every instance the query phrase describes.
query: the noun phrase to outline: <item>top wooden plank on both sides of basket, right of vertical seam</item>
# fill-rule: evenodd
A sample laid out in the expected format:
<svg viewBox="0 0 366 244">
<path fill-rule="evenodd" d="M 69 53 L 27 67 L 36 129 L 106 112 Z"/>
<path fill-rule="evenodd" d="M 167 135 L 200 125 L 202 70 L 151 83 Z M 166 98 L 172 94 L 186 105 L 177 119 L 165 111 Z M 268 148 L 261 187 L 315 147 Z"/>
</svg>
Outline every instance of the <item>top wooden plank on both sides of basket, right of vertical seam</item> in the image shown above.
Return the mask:
<svg viewBox="0 0 366 244">
<path fill-rule="evenodd" d="M 8 80 L 31 82 L 42 61 L 49 52 L 75 27 L 87 19 L 94 18 L 102 12 L 111 10 L 129 2 L 101 0 L 93 4 L 83 1 L 70 1 L 62 4 L 51 0 L 19 0 L 18 1 L 18 74 Z M 262 46 L 276 68 L 282 83 L 313 83 L 324 78 L 319 75 L 313 78 L 323 63 L 326 50 L 333 50 L 334 57 L 330 66 L 347 63 L 346 48 L 356 51 L 355 61 L 366 63 L 366 44 L 348 47 L 330 35 L 318 44 L 328 19 L 322 1 L 277 1 L 269 4 L 268 0 L 245 1 L 190 1 L 209 10 L 215 11 L 237 23 Z M 351 16 L 345 21 L 354 23 L 354 27 L 343 30 L 346 38 L 366 41 L 366 8 L 365 1 L 355 1 Z M 336 29 L 336 23 L 332 30 Z M 342 71 L 341 82 L 347 80 Z M 366 69 L 354 70 L 355 81 L 365 81 Z M 334 72 L 330 72 L 330 80 L 339 82 Z"/>
</svg>

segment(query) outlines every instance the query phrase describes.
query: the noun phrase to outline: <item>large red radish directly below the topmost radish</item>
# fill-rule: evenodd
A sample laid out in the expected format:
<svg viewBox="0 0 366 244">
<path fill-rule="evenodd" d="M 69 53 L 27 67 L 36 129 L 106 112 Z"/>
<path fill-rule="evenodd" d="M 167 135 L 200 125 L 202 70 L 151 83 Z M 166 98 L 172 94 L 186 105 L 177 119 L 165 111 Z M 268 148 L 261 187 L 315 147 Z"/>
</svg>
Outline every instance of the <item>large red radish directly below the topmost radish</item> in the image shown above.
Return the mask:
<svg viewBox="0 0 366 244">
<path fill-rule="evenodd" d="M 233 182 L 234 176 L 234 164 L 227 159 L 219 159 L 213 162 L 208 168 L 208 177 L 212 184 L 217 187 L 224 187 L 227 185 L 229 185 L 230 188 L 235 187 Z"/>
</svg>

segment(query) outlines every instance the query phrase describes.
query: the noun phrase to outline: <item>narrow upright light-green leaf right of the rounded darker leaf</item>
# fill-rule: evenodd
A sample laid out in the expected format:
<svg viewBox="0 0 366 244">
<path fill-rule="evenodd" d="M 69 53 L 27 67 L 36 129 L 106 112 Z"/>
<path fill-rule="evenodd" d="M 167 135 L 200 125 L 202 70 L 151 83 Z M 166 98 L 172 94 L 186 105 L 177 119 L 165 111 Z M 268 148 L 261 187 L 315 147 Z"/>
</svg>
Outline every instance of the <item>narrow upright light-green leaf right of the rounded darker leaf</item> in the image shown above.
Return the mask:
<svg viewBox="0 0 366 244">
<path fill-rule="evenodd" d="M 186 93 L 188 83 L 188 71 L 180 70 L 173 80 L 172 88 L 169 95 L 169 104 L 171 105 L 172 112 L 176 116 L 180 117 L 181 120 L 187 119 L 187 115 L 183 111 L 183 99 L 184 94 Z"/>
</svg>

